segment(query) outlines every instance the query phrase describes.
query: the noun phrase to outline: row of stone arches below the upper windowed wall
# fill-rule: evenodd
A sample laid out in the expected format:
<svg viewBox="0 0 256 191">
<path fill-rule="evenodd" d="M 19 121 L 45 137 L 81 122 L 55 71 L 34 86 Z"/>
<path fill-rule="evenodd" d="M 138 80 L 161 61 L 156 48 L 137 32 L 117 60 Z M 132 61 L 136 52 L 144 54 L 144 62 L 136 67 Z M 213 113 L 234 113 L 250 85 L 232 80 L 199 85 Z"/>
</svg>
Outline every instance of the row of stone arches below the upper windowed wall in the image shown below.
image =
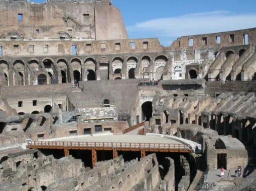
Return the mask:
<svg viewBox="0 0 256 191">
<path fill-rule="evenodd" d="M 55 61 L 52 58 L 46 57 L 41 61 L 33 58 L 27 62 L 23 59 L 17 59 L 11 64 L 12 68 L 10 69 L 9 62 L 2 59 L 0 60 L 0 69 L 3 71 L 7 85 L 10 85 L 10 78 L 12 78 L 13 85 L 32 84 L 30 76 L 33 73 L 37 74 L 38 84 L 47 83 L 46 78 L 49 78 L 48 83 L 70 83 L 72 81 L 77 83 L 80 80 L 96 80 L 96 75 L 100 75 L 100 72 L 97 71 L 103 67 L 107 67 L 108 70 L 112 68 L 112 71 L 109 70 L 109 73 L 115 74 L 113 79 L 135 78 L 136 69 L 139 69 L 140 77 L 148 77 L 149 73 L 155 73 L 155 78 L 160 79 L 167 61 L 168 58 L 165 55 L 157 56 L 155 59 L 147 55 L 141 58 L 130 56 L 125 59 L 117 56 L 111 60 L 108 57 L 101 57 L 98 61 L 94 57 L 88 57 L 84 60 L 75 57 L 69 62 L 65 58 L 59 58 Z M 138 68 L 139 62 L 141 63 L 140 68 Z M 151 62 L 155 66 L 149 68 Z M 124 70 L 125 73 L 122 73 Z M 102 77 L 99 76 L 99 78 Z M 109 77 L 107 78 L 109 79 Z"/>
</svg>

